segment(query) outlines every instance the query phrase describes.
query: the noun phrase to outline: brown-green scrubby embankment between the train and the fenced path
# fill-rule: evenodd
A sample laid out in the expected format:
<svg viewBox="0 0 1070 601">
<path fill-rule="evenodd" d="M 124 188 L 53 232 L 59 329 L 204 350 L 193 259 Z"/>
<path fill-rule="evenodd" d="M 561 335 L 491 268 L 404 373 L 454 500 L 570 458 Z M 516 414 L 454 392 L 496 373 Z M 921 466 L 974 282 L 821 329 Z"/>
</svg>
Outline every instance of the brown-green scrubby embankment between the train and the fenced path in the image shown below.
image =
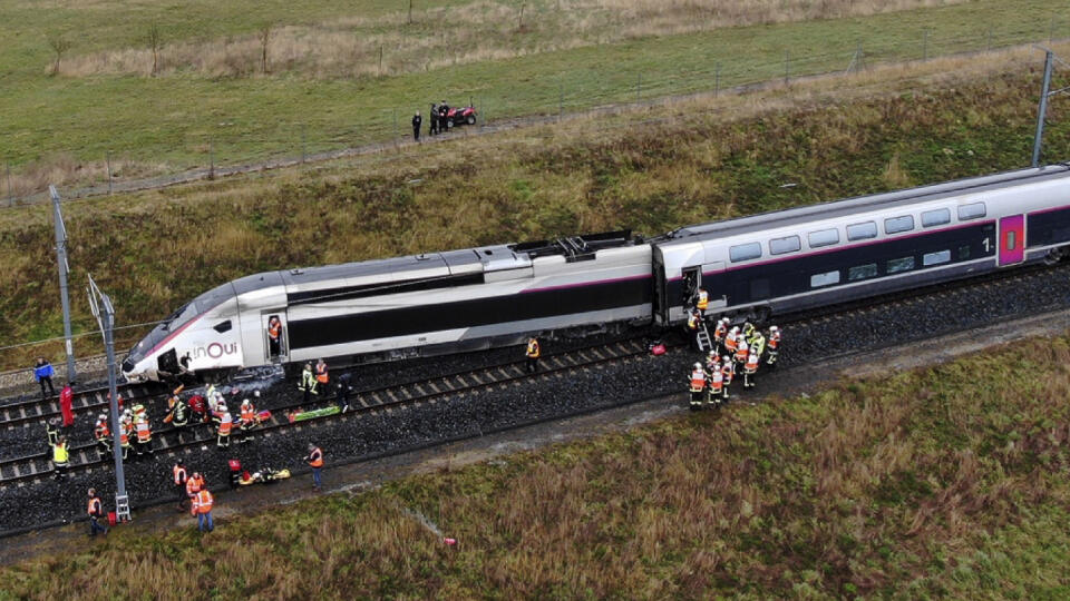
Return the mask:
<svg viewBox="0 0 1070 601">
<path fill-rule="evenodd" d="M 901 85 L 882 82 L 893 73 L 874 73 L 701 99 L 644 112 L 650 122 L 641 127 L 629 127 L 635 114 L 625 114 L 264 179 L 71 203 L 72 278 L 80 289 L 94 274 L 116 300 L 119 323 L 130 325 L 260 270 L 619 227 L 659 234 L 1021 167 L 1039 75 L 1020 58 L 1006 60 L 902 69 Z M 944 83 L 908 82 L 925 69 Z M 1000 75 L 1006 70 L 1014 75 Z M 908 91 L 915 87 L 932 91 Z M 1052 105 L 1052 160 L 1070 151 L 1063 111 Z M 48 215 L 42 206 L 0 211 L 0 289 L 18 290 L 0 296 L 4 341 L 62 332 Z M 76 332 L 95 331 L 72 294 Z M 120 346 L 143 332 L 124 332 Z M 23 366 L 58 349 L 12 349 L 0 365 Z M 99 352 L 95 336 L 80 339 L 79 354 Z"/>
</svg>

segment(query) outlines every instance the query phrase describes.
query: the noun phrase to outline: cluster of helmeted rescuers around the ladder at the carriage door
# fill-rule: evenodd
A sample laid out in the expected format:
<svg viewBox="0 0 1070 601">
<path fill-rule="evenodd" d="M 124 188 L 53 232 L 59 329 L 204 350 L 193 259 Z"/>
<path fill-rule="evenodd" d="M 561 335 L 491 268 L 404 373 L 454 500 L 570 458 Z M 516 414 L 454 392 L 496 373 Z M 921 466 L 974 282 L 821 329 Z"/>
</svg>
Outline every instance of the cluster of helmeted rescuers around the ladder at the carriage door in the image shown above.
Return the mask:
<svg viewBox="0 0 1070 601">
<path fill-rule="evenodd" d="M 699 331 L 706 327 L 706 311 L 709 308 L 709 294 L 699 288 L 694 305 L 688 315 L 689 335 L 699 339 Z M 780 328 L 769 326 L 763 334 L 750 322 L 742 327 L 733 326 L 728 317 L 719 318 L 709 337 L 708 354 L 691 367 L 688 390 L 691 393 L 691 408 L 703 406 L 720 407 L 729 400 L 729 387 L 737 376 L 742 376 L 743 387 L 753 388 L 758 368 L 762 358 L 768 366 L 776 365 L 780 355 Z"/>
</svg>

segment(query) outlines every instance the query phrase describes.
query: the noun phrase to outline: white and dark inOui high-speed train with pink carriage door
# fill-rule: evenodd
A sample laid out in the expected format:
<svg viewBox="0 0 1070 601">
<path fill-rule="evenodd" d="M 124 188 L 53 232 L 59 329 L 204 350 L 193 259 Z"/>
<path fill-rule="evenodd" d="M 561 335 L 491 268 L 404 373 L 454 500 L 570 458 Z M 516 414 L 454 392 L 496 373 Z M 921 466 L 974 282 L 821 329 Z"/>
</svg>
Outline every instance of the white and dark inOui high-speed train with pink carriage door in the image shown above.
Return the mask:
<svg viewBox="0 0 1070 601">
<path fill-rule="evenodd" d="M 179 362 L 228 372 L 317 357 L 459 353 L 525 336 L 685 319 L 766 319 L 905 288 L 1059 260 L 1070 168 L 1054 165 L 687 226 L 269 272 L 164 319 L 123 362 L 159 378 Z M 272 344 L 269 323 L 281 326 Z"/>
</svg>

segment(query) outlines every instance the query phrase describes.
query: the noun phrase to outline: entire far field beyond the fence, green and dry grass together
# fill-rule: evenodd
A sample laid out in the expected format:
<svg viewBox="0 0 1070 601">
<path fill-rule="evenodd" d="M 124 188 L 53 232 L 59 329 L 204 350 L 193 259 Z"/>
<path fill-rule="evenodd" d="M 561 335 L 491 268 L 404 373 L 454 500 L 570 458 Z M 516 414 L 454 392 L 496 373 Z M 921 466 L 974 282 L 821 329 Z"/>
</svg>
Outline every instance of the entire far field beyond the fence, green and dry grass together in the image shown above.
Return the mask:
<svg viewBox="0 0 1070 601">
<path fill-rule="evenodd" d="M 510 11 L 518 18 L 521 4 L 532 14 L 528 26 L 513 24 Z M 624 4 L 632 8 L 617 9 Z M 946 6 L 867 14 L 879 6 L 917 4 Z M 651 17 L 650 6 L 442 1 L 417 7 L 409 26 L 407 6 L 383 1 L 242 0 L 182 10 L 156 1 L 54 3 L 49 10 L 4 3 L 0 21 L 18 26 L 12 43 L 0 49 L 0 160 L 13 166 L 12 191 L 26 194 L 40 189 L 42 174 L 54 183 L 99 178 L 106 155 L 123 165 L 119 177 L 134 177 L 390 139 L 405 134 L 414 110 L 441 98 L 471 99 L 484 117 L 498 119 L 708 90 L 718 63 L 721 85 L 735 86 L 782 77 L 786 58 L 796 76 L 844 70 L 859 43 L 873 63 L 1070 33 L 1056 0 L 836 1 L 815 4 L 825 7 L 817 12 L 799 9 L 799 1 L 694 0 L 670 4 L 662 20 Z M 437 10 L 484 17 L 474 19 L 469 36 L 420 17 Z M 719 19 L 718 10 L 727 16 Z M 863 16 L 766 22 L 852 13 Z M 150 69 L 146 36 L 154 23 L 164 40 L 162 71 L 146 77 L 136 66 Z M 265 23 L 276 23 L 278 63 L 256 75 L 255 38 Z M 357 40 L 353 48 L 330 42 L 339 36 Z M 60 73 L 51 76 L 58 39 L 70 45 L 69 72 L 61 60 Z M 313 39 L 328 40 L 322 43 L 335 53 L 321 57 L 325 51 L 309 46 Z M 377 39 L 406 50 L 391 55 Z M 369 43 L 385 48 L 382 77 L 378 48 L 368 56 Z"/>
</svg>

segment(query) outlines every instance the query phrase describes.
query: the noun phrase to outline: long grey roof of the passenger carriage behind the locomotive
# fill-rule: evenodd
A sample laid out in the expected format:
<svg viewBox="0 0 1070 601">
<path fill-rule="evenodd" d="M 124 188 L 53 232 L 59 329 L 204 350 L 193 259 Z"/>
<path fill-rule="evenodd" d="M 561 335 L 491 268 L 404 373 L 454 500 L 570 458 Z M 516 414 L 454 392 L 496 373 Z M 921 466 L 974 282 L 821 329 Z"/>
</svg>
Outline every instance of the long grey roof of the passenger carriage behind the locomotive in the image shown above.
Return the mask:
<svg viewBox="0 0 1070 601">
<path fill-rule="evenodd" d="M 699 237 L 700 239 L 717 238 L 724 234 L 735 236 L 738 234 L 806 224 L 815 220 L 847 217 L 876 209 L 913 205 L 924 200 L 938 200 L 963 194 L 998 190 L 1011 186 L 1019 186 L 1025 181 L 1044 181 L 1066 177 L 1068 174 L 1070 174 L 1070 166 L 1066 164 L 1019 169 L 1002 174 L 945 181 L 942 184 L 931 184 L 905 190 L 858 196 L 844 200 L 821 203 L 819 205 L 808 205 L 786 210 L 737 217 L 723 221 L 684 226 L 670 231 L 667 237 L 671 242 L 687 240 L 692 237 Z"/>
</svg>

